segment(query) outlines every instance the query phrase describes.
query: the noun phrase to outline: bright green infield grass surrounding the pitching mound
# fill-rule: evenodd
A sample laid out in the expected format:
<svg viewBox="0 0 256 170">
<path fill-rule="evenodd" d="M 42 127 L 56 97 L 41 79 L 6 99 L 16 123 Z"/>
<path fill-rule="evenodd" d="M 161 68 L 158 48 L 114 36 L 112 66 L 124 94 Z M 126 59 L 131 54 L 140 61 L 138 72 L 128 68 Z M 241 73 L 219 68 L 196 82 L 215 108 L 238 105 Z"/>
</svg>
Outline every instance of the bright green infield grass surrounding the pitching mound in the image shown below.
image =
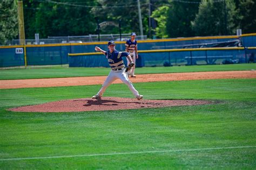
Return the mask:
<svg viewBox="0 0 256 170">
<path fill-rule="evenodd" d="M 91 97 L 100 86 L 0 90 L 0 169 L 255 169 L 256 79 L 136 83 L 145 99 L 207 99 L 202 106 L 19 113 L 6 108 Z M 123 84 L 105 96 L 132 97 Z M 194 148 L 240 147 L 190 151 Z M 169 151 L 136 153 L 144 151 Z M 4 158 L 128 153 L 74 158 Z"/>
</svg>

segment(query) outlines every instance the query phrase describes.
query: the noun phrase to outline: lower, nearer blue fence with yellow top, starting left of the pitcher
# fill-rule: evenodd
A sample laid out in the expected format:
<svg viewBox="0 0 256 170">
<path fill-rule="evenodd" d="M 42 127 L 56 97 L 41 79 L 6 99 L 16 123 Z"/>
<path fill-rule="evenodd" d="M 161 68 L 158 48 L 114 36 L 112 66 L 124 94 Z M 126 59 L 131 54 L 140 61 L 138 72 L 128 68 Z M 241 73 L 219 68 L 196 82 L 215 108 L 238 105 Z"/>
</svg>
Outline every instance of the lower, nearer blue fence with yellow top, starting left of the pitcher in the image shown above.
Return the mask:
<svg viewBox="0 0 256 170">
<path fill-rule="evenodd" d="M 225 47 L 204 49 L 140 50 L 137 67 L 171 65 L 206 65 L 255 63 L 256 47 Z M 100 52 L 69 53 L 70 67 L 108 67 L 106 58 Z M 125 64 L 126 64 L 126 60 Z"/>
</svg>

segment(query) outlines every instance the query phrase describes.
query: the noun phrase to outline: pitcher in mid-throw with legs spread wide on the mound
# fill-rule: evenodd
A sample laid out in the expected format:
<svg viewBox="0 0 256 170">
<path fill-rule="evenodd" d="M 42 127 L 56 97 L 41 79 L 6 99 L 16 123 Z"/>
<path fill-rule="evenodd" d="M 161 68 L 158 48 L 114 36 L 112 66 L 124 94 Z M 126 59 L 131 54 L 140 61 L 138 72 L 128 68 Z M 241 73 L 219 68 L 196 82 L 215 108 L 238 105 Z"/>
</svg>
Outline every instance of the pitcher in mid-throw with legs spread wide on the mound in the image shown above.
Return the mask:
<svg viewBox="0 0 256 170">
<path fill-rule="evenodd" d="M 100 99 L 103 96 L 103 93 L 105 92 L 107 87 L 111 83 L 113 83 L 114 80 L 120 79 L 123 81 L 124 84 L 126 84 L 129 87 L 133 95 L 138 100 L 140 100 L 143 98 L 143 96 L 139 94 L 139 92 L 134 88 L 131 81 L 129 80 L 127 73 L 125 72 L 125 65 L 122 59 L 122 57 L 126 57 L 129 60 L 129 62 L 133 64 L 131 56 L 129 55 L 128 52 L 117 51 L 115 49 L 115 46 L 116 44 L 114 44 L 113 41 L 110 41 L 107 45 L 109 49 L 108 51 L 104 51 L 100 49 L 98 46 L 95 47 L 96 51 L 100 51 L 106 56 L 109 62 L 109 65 L 111 67 L 111 71 L 109 73 L 109 76 L 107 76 L 104 84 L 102 85 L 102 88 L 99 90 L 99 92 L 95 96 L 92 97 L 92 99 Z"/>
</svg>

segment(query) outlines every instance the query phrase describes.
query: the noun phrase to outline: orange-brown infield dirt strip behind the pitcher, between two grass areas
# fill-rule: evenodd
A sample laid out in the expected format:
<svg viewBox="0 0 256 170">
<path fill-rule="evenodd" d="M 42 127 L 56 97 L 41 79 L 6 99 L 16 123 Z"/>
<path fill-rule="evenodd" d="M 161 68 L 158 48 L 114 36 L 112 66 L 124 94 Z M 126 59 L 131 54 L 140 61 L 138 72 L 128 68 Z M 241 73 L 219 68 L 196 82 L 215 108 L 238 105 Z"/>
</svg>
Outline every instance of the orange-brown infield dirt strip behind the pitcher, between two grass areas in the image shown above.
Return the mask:
<svg viewBox="0 0 256 170">
<path fill-rule="evenodd" d="M 136 78 L 130 78 L 130 80 L 132 81 L 132 83 L 139 83 L 139 82 L 153 82 L 153 81 L 233 79 L 233 78 L 256 78 L 256 71 L 216 71 L 216 72 L 138 74 Z M 103 84 L 105 79 L 106 79 L 106 76 L 0 80 L 0 89 L 96 85 L 96 84 Z M 113 83 L 118 84 L 118 83 L 122 83 L 122 81 L 116 80 Z"/>
</svg>

